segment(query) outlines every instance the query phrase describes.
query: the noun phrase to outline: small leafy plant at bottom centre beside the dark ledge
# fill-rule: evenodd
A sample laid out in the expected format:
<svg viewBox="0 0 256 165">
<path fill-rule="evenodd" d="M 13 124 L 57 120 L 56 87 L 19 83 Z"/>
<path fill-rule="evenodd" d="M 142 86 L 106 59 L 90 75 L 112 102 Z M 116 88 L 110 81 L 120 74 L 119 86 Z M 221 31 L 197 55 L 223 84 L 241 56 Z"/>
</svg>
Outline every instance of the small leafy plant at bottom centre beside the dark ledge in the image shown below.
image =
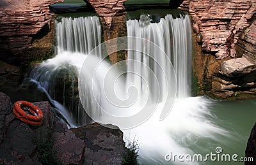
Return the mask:
<svg viewBox="0 0 256 165">
<path fill-rule="evenodd" d="M 138 165 L 138 150 L 139 145 L 138 141 L 129 141 L 127 148 L 125 150 L 124 156 L 123 156 L 123 162 L 122 164 L 126 165 Z"/>
</svg>

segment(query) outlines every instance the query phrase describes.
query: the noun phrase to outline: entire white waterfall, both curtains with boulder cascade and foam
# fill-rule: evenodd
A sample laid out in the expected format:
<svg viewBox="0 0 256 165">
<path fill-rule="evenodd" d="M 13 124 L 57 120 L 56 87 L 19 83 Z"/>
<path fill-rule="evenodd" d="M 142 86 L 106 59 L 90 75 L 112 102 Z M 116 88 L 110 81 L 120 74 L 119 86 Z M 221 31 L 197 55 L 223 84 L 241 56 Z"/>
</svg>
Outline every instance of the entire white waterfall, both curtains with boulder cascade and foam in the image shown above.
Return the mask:
<svg viewBox="0 0 256 165">
<path fill-rule="evenodd" d="M 228 139 L 236 133 L 212 113 L 218 102 L 191 97 L 189 16 L 166 15 L 151 23 L 141 15 L 127 21 L 127 36 L 123 73 L 104 59 L 108 44 L 100 45 L 99 18 L 63 17 L 56 21 L 56 56 L 35 66 L 28 78 L 47 93 L 69 127 L 93 120 L 118 126 L 126 144 L 138 142 L 141 164 L 204 164 L 165 159 L 166 154 L 209 154 L 219 145 L 232 151 Z M 166 103 L 171 111 L 163 111 Z M 142 113 L 145 120 L 133 126 L 135 120 L 127 118 L 141 109 L 152 113 Z"/>
</svg>

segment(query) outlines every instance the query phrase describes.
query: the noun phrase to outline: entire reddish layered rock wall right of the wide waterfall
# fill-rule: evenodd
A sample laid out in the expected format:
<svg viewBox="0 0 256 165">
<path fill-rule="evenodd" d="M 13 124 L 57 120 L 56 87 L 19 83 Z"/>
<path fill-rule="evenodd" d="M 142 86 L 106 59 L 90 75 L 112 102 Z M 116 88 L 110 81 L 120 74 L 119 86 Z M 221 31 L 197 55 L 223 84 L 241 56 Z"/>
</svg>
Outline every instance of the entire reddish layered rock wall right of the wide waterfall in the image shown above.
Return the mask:
<svg viewBox="0 0 256 165">
<path fill-rule="evenodd" d="M 185 0 L 179 8 L 192 20 L 199 93 L 220 99 L 256 94 L 255 1 Z"/>
</svg>

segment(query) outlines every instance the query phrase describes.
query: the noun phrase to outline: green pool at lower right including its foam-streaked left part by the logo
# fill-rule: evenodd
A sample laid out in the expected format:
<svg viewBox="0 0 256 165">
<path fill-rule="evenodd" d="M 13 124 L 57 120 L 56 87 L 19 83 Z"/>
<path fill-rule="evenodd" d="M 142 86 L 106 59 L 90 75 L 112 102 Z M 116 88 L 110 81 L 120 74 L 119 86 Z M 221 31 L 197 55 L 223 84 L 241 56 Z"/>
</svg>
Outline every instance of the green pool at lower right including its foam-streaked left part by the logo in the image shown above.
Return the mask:
<svg viewBox="0 0 256 165">
<path fill-rule="evenodd" d="M 225 129 L 228 133 L 224 135 L 214 135 L 215 140 L 200 138 L 187 146 L 191 148 L 195 154 L 216 154 L 216 148 L 221 147 L 222 152 L 220 161 L 211 161 L 207 159 L 206 162 L 198 162 L 198 164 L 244 164 L 244 162 L 232 161 L 232 155 L 237 154 L 237 160 L 245 156 L 245 150 L 250 132 L 255 124 L 256 116 L 256 99 L 248 99 L 243 101 L 214 101 L 209 107 L 212 116 L 207 117 L 212 120 L 212 123 Z M 221 161 L 221 155 L 229 154 L 230 161 Z"/>
</svg>

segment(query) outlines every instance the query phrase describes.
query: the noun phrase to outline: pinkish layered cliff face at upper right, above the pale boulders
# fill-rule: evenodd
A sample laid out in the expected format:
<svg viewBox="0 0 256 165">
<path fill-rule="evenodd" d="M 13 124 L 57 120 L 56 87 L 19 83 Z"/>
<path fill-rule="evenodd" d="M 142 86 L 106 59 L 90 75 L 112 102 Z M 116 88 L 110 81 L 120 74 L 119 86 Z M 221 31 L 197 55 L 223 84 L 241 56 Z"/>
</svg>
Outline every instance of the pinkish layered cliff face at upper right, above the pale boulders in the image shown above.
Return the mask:
<svg viewBox="0 0 256 165">
<path fill-rule="evenodd" d="M 217 59 L 235 57 L 239 34 L 250 25 L 256 13 L 254 0 L 189 0 L 180 8 L 191 15 L 202 50 L 216 55 Z"/>
</svg>

